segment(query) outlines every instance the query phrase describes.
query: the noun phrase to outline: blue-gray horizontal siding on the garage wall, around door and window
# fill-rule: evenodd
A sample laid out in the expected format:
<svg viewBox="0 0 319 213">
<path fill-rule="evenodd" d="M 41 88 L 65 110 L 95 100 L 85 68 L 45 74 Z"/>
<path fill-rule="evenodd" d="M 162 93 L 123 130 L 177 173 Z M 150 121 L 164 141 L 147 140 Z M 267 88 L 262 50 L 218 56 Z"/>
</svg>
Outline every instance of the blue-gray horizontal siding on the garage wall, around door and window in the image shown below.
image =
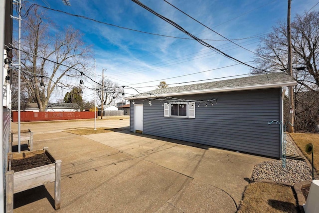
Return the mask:
<svg viewBox="0 0 319 213">
<path fill-rule="evenodd" d="M 218 98 L 207 107 L 200 103 L 196 118 L 164 117 L 159 100 L 144 103 L 144 134 L 183 140 L 212 147 L 279 158 L 280 127 L 267 122 L 281 120 L 281 89 L 265 89 L 204 95 L 176 96 L 186 100 Z M 131 100 L 131 131 L 134 131 L 134 106 Z"/>
</svg>

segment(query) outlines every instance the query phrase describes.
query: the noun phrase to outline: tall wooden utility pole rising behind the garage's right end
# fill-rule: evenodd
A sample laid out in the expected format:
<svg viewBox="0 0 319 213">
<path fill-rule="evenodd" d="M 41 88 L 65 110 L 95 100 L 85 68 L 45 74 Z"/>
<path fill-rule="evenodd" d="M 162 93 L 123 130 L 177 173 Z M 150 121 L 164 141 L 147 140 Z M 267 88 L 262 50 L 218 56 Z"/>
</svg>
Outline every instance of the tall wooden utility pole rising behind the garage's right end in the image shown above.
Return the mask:
<svg viewBox="0 0 319 213">
<path fill-rule="evenodd" d="M 291 10 L 291 0 L 288 0 L 288 15 L 287 15 L 287 37 L 288 37 L 288 73 L 293 77 L 293 67 L 292 67 L 292 49 L 291 49 L 291 26 L 290 26 L 290 10 Z M 294 132 L 294 87 L 290 86 L 289 92 L 289 122 L 288 132 Z"/>
</svg>

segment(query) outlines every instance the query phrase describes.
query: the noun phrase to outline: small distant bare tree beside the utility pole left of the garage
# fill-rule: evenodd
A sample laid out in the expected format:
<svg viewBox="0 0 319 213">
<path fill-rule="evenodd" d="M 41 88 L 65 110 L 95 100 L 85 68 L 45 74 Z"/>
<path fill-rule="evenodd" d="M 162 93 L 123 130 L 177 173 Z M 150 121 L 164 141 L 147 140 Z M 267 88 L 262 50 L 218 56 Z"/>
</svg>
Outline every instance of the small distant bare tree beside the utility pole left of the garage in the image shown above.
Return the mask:
<svg viewBox="0 0 319 213">
<path fill-rule="evenodd" d="M 100 82 L 102 84 L 102 81 Z M 113 82 L 110 79 L 105 79 L 102 85 L 97 87 L 97 94 L 102 103 L 102 92 L 103 92 L 103 105 L 111 104 L 113 101 L 119 99 L 123 93 L 123 87 L 119 86 L 117 82 Z"/>
</svg>

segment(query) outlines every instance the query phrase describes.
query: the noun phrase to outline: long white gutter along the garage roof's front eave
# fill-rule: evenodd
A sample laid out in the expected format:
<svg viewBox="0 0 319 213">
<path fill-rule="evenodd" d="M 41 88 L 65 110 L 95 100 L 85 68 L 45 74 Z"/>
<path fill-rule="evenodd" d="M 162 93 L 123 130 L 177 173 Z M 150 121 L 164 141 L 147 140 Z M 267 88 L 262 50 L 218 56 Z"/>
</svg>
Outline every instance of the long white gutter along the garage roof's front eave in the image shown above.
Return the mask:
<svg viewBox="0 0 319 213">
<path fill-rule="evenodd" d="M 140 98 L 156 98 L 156 97 L 168 97 L 168 96 L 179 96 L 179 95 L 196 95 L 196 94 L 206 94 L 206 93 L 217 93 L 217 92 L 232 92 L 232 91 L 243 91 L 243 90 L 256 90 L 256 89 L 271 89 L 271 88 L 285 88 L 288 86 L 296 86 L 297 81 L 291 82 L 282 82 L 276 84 L 259 84 L 243 87 L 225 87 L 225 88 L 212 88 L 204 90 L 193 90 L 193 91 L 184 91 L 184 92 L 173 92 L 173 93 L 164 93 L 156 95 L 144 95 L 144 96 L 132 96 L 126 97 L 126 100 L 140 99 Z"/>
</svg>

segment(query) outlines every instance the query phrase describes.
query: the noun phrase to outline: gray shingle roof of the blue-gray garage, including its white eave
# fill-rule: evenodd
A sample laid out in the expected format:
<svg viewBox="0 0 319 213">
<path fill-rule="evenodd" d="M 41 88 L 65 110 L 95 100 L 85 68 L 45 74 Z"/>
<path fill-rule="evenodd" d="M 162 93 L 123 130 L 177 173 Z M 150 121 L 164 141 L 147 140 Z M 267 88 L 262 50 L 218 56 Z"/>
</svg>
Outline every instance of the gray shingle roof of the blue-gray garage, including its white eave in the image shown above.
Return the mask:
<svg viewBox="0 0 319 213">
<path fill-rule="evenodd" d="M 126 99 L 135 99 L 136 97 L 156 97 L 185 95 L 185 94 L 201 94 L 213 92 L 239 91 L 263 88 L 278 88 L 286 86 L 295 86 L 297 82 L 284 72 L 276 72 L 264 75 L 253 75 L 243 78 L 234 78 L 222 81 L 213 81 L 199 84 L 191 84 L 185 86 L 175 86 L 152 90 L 143 94 L 137 94 L 127 97 Z"/>
</svg>

